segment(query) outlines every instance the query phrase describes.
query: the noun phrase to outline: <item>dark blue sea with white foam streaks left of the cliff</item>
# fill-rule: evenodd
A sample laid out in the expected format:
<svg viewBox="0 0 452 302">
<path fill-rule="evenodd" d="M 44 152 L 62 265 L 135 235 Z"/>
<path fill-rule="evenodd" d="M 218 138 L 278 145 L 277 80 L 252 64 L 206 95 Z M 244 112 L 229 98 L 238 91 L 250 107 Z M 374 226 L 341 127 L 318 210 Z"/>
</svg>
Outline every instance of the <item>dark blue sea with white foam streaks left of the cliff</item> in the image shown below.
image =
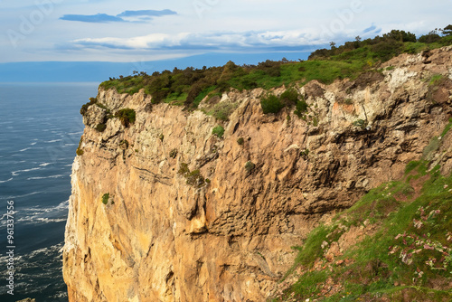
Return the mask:
<svg viewBox="0 0 452 302">
<path fill-rule="evenodd" d="M 71 195 L 71 164 L 83 131 L 80 107 L 96 96 L 98 85 L 0 83 L 2 302 L 24 297 L 38 302 L 68 300 L 61 248 Z M 8 205 L 14 206 L 12 242 L 7 237 Z M 7 254 L 10 250 L 14 257 Z M 12 260 L 14 296 L 7 293 L 10 280 L 6 279 Z"/>
</svg>

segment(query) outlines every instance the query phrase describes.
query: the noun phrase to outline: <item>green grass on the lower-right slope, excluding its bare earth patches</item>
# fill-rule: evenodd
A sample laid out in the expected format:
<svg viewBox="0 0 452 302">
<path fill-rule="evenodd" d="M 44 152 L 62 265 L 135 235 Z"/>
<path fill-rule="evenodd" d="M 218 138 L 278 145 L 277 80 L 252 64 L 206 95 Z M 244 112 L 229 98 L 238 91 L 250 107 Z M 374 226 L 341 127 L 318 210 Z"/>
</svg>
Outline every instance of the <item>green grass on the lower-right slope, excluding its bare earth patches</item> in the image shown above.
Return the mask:
<svg viewBox="0 0 452 302">
<path fill-rule="evenodd" d="M 364 301 L 371 297 L 398 300 L 400 295 L 407 295 L 402 294 L 407 290 L 413 300 L 423 300 L 430 294 L 438 301 L 452 298 L 447 286 L 442 289 L 430 286 L 432 280 L 444 284 L 451 280 L 452 193 L 447 188 L 452 187 L 452 177 L 433 172 L 425 182 L 422 194 L 410 203 L 400 203 L 388 196 L 389 193 L 397 195 L 407 185 L 404 182 L 383 184 L 338 215 L 332 226 L 322 225 L 312 231 L 303 247 L 298 248 L 295 265 L 308 272 L 287 288 L 279 301 L 288 297 L 317 298 L 319 301 Z M 388 207 L 394 211 L 385 210 Z M 372 213 L 379 213 L 373 216 L 373 222 L 371 220 L 380 226 L 376 234 L 337 258 L 353 262 L 346 266 L 328 263 L 325 242 L 337 241 L 348 229 L 339 226 L 344 225 L 343 222 L 363 225 Z M 321 261 L 326 269 L 313 270 L 315 260 Z M 338 293 L 322 294 L 326 278 L 332 278 L 340 286 Z"/>
</svg>

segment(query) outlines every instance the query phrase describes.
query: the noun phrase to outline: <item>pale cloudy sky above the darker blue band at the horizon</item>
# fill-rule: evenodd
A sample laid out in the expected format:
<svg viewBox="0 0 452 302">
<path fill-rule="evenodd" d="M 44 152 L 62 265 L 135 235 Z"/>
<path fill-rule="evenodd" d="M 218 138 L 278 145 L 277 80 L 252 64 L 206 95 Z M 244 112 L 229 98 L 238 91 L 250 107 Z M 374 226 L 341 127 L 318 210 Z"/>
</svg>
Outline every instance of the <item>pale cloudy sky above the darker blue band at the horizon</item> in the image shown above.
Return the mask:
<svg viewBox="0 0 452 302">
<path fill-rule="evenodd" d="M 0 0 L 0 63 L 296 57 L 452 24 L 452 0 Z"/>
</svg>

